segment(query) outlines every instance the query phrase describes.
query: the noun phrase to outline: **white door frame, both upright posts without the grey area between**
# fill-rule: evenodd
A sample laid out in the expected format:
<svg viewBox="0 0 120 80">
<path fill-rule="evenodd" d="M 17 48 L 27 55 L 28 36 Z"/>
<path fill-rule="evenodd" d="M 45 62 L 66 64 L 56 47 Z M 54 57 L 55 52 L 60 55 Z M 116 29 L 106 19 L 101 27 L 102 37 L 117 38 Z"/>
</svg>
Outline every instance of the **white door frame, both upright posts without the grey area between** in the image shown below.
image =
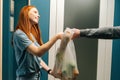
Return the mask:
<svg viewBox="0 0 120 80">
<path fill-rule="evenodd" d="M 51 38 L 63 31 L 64 0 L 50 0 L 50 33 Z M 59 15 L 59 16 L 57 16 Z M 99 27 L 113 26 L 114 0 L 100 0 Z M 49 50 L 49 66 L 53 68 L 57 43 Z M 110 80 L 112 61 L 112 40 L 98 40 L 97 79 Z M 57 80 L 51 76 L 48 80 Z"/>
</svg>

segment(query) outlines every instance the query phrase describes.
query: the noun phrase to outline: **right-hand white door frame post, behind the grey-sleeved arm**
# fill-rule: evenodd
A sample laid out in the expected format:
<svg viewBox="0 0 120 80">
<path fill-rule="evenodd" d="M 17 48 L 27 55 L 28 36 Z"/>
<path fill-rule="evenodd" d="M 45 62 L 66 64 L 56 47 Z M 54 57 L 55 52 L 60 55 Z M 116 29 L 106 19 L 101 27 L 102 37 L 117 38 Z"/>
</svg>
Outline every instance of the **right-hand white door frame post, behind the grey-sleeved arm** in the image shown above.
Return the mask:
<svg viewBox="0 0 120 80">
<path fill-rule="evenodd" d="M 112 27 L 114 0 L 100 0 L 99 27 Z M 97 80 L 111 80 L 112 40 L 98 41 Z"/>
</svg>

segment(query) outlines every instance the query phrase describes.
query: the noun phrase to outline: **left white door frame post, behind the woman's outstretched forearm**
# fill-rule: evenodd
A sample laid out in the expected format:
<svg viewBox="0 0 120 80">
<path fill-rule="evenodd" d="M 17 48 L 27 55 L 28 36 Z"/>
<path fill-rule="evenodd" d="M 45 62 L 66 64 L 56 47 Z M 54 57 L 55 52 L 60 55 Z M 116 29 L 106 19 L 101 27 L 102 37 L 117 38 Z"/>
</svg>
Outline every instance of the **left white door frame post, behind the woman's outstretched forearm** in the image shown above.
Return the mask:
<svg viewBox="0 0 120 80">
<path fill-rule="evenodd" d="M 59 15 L 59 16 L 57 16 Z M 64 0 L 50 0 L 50 28 L 49 39 L 56 35 L 56 33 L 63 31 L 63 15 L 64 15 Z M 55 51 L 57 50 L 59 41 L 57 41 L 53 47 L 49 50 L 49 62 L 50 68 L 54 67 Z M 59 80 L 48 75 L 48 80 Z"/>
</svg>

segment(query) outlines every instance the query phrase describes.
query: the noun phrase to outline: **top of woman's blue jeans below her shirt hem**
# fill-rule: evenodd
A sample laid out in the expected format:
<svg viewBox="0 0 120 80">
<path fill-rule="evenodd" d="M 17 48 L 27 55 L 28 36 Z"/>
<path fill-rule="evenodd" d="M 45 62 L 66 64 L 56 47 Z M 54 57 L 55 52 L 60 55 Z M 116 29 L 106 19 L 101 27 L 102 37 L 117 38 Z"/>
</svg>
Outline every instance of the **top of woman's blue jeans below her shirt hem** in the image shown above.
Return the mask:
<svg viewBox="0 0 120 80">
<path fill-rule="evenodd" d="M 18 76 L 16 80 L 40 80 L 40 73 L 35 73 L 29 76 Z"/>
</svg>

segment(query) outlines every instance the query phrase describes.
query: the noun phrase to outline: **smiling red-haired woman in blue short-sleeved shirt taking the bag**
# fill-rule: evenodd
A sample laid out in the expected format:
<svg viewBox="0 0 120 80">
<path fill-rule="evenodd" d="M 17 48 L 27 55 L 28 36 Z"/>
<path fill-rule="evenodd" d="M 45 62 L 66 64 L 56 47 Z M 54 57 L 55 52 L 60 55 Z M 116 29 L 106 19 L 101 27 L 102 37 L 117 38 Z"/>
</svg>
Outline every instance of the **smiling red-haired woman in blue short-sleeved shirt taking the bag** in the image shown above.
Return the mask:
<svg viewBox="0 0 120 80">
<path fill-rule="evenodd" d="M 39 17 L 39 12 L 34 6 L 24 6 L 20 11 L 18 24 L 13 34 L 13 46 L 18 65 L 17 80 L 40 80 L 41 67 L 52 75 L 52 70 L 40 57 L 58 39 L 62 38 L 63 33 L 56 34 L 43 44 L 38 26 Z"/>
</svg>

